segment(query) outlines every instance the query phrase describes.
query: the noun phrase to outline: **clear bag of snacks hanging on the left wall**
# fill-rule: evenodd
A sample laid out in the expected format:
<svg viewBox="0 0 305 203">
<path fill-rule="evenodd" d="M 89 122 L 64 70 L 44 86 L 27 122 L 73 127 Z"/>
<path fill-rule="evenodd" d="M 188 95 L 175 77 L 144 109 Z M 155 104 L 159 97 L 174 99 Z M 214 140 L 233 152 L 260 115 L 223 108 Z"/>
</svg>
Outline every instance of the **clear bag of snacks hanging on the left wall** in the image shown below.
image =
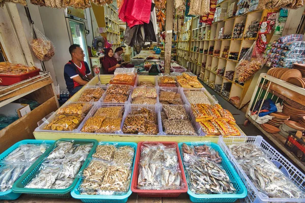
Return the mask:
<svg viewBox="0 0 305 203">
<path fill-rule="evenodd" d="M 37 39 L 33 39 L 29 42 L 29 45 L 32 48 L 34 55 L 41 61 L 50 60 L 55 54 L 55 47 L 53 43 L 43 35 L 39 29 L 32 25 Z"/>
</svg>

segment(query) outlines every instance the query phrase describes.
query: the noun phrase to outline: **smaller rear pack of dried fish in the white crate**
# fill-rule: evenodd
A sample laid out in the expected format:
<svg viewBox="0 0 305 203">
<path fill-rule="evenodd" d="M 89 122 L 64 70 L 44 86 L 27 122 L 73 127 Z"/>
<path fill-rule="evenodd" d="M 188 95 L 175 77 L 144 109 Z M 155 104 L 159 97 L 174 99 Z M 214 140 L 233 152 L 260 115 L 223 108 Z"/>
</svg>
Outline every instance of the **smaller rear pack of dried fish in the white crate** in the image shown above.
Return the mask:
<svg viewBox="0 0 305 203">
<path fill-rule="evenodd" d="M 263 156 L 264 152 L 253 143 L 240 143 L 228 146 L 235 158 L 251 158 Z"/>
</svg>

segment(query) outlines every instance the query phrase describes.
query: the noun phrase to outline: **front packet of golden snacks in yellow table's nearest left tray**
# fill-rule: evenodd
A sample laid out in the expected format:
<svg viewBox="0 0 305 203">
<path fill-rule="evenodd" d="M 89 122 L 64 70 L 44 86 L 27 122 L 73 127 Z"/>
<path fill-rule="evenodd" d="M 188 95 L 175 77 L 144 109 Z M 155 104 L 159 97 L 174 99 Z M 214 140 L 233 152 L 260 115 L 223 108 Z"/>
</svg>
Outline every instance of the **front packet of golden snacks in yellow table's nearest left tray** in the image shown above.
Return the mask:
<svg viewBox="0 0 305 203">
<path fill-rule="evenodd" d="M 84 117 L 82 115 L 56 115 L 55 118 L 50 123 L 48 123 L 43 129 L 72 131 L 78 127 L 83 118 Z"/>
</svg>

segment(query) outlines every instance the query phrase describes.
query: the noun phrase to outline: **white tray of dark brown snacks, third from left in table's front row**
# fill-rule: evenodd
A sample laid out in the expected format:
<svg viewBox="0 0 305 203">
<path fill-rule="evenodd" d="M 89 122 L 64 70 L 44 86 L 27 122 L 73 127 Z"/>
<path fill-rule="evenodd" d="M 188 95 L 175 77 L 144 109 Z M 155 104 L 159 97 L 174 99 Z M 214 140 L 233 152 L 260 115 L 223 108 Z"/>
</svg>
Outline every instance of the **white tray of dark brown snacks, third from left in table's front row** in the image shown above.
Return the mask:
<svg viewBox="0 0 305 203">
<path fill-rule="evenodd" d="M 151 111 L 155 111 L 157 114 L 157 122 L 158 122 L 158 130 L 159 133 L 158 135 L 162 135 L 162 123 L 161 123 L 161 114 L 160 114 L 160 106 L 158 104 L 156 105 L 132 105 L 132 104 L 128 104 L 127 106 L 125 106 L 125 112 L 124 112 L 124 116 L 121 122 L 121 129 L 123 130 L 123 125 L 125 122 L 126 117 L 129 115 L 129 113 L 132 110 L 139 110 L 141 108 L 146 108 L 149 109 Z M 129 133 L 124 133 L 126 135 L 131 135 Z"/>
</svg>

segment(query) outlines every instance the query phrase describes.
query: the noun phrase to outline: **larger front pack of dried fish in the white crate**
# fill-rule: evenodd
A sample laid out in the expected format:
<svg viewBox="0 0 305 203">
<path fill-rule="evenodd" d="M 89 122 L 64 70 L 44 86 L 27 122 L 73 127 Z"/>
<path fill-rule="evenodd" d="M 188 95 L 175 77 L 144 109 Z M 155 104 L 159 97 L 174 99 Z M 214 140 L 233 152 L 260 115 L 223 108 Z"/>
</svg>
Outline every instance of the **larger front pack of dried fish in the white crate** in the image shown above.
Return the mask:
<svg viewBox="0 0 305 203">
<path fill-rule="evenodd" d="M 254 186 L 271 198 L 304 198 L 305 193 L 265 157 L 237 160 Z"/>
</svg>

